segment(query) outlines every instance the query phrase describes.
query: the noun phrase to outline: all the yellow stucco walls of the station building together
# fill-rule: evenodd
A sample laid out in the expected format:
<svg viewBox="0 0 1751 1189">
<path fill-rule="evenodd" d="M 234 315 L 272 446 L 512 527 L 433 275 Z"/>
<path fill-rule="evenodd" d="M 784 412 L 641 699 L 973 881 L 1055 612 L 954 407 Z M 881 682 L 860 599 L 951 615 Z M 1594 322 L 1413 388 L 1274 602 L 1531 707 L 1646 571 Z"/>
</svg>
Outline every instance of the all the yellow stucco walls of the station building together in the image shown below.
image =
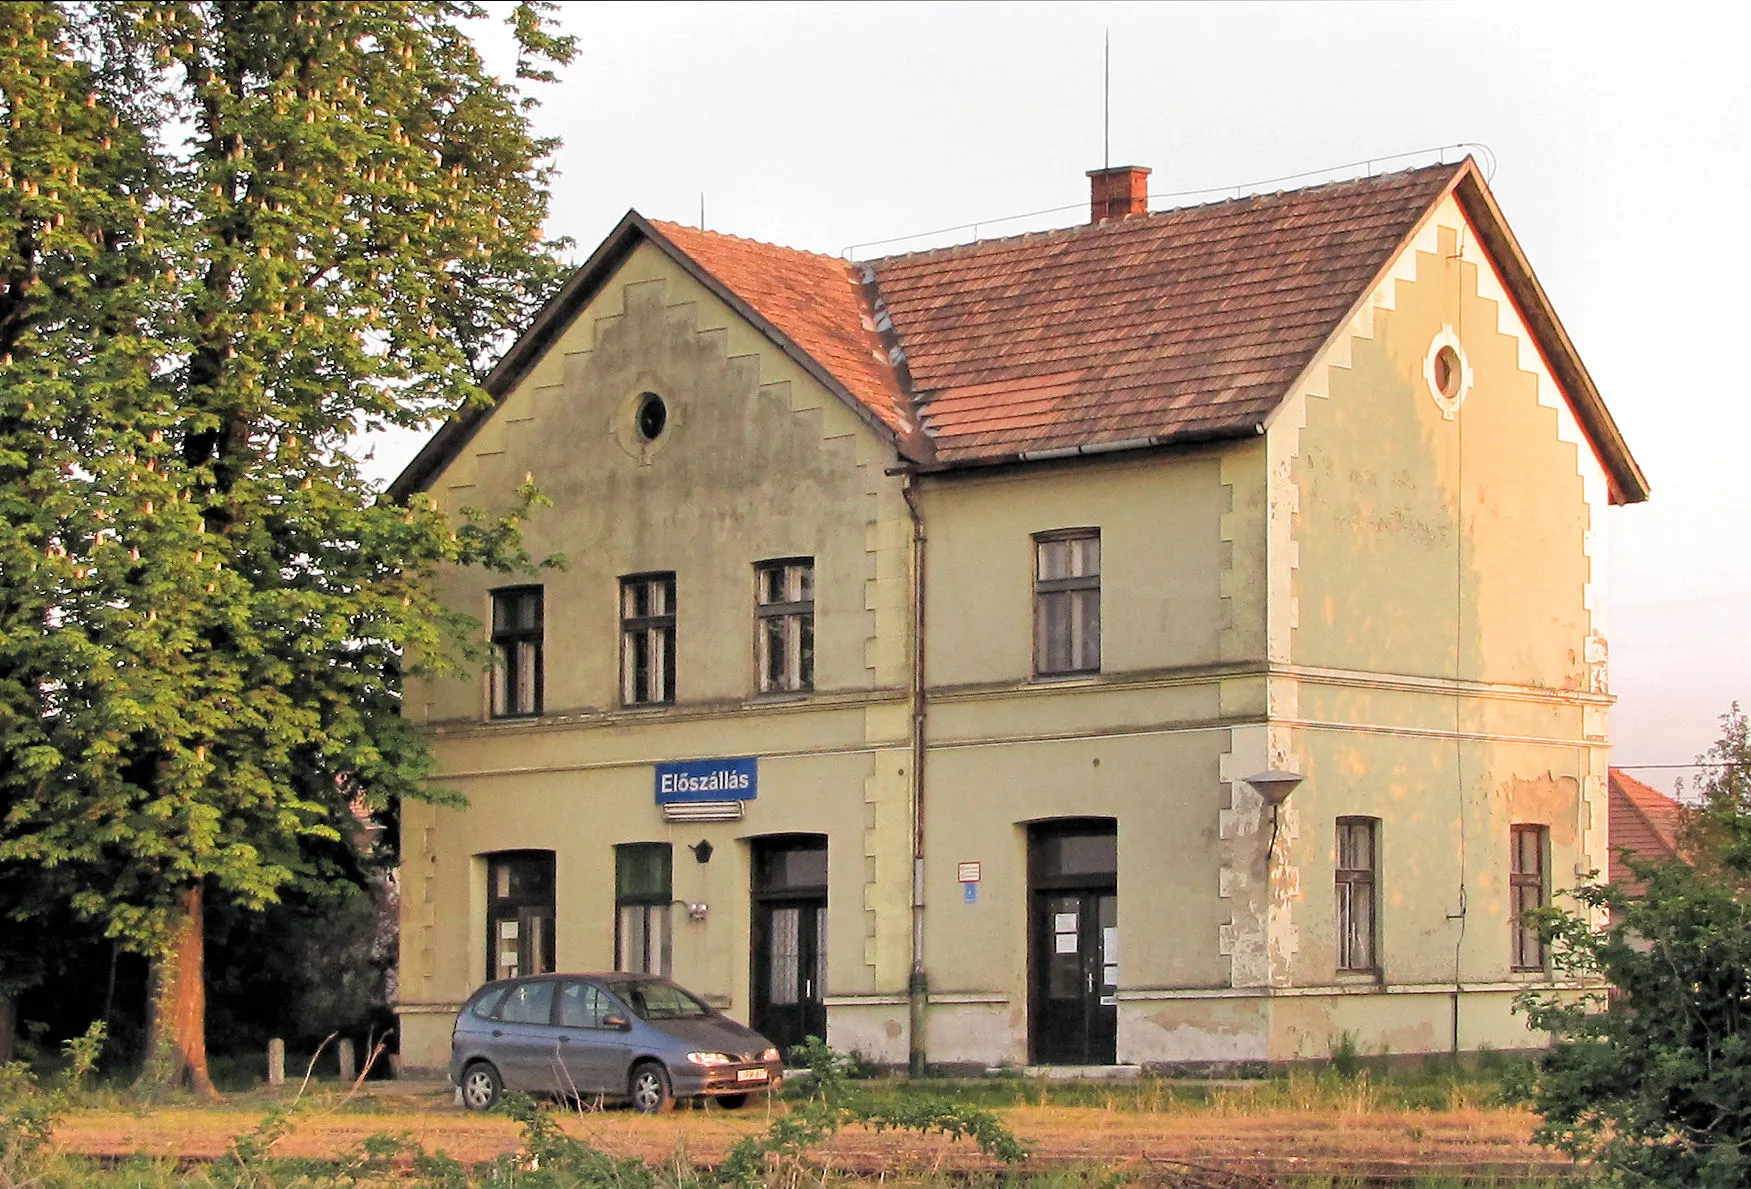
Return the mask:
<svg viewBox="0 0 1751 1189">
<path fill-rule="evenodd" d="M 1457 410 L 1424 364 L 1452 333 Z M 637 396 L 671 426 L 632 433 Z M 1452 415 L 1448 415 L 1452 413 Z M 441 1061 L 485 968 L 482 856 L 557 855 L 557 960 L 613 960 L 613 844 L 669 841 L 674 972 L 749 993 L 748 842 L 830 839 L 828 1038 L 907 1054 L 909 532 L 895 455 L 660 252 L 641 247 L 432 485 L 503 506 L 531 475 L 546 713 L 487 721 L 473 676 L 410 692 L 466 809 L 403 821 L 403 1037 Z M 1262 438 L 923 476 L 925 870 L 935 1061 L 1028 1056 L 1026 825 L 1119 834 L 1119 1059 L 1518 1047 L 1508 828 L 1553 888 L 1602 867 L 1604 475 L 1452 203 Z M 1101 667 L 1033 678 L 1033 534 L 1101 532 Z M 816 562 L 816 692 L 753 695 L 756 560 Z M 618 576 L 676 571 L 678 704 L 618 706 Z M 478 615 L 510 580 L 445 576 Z M 664 823 L 651 765 L 758 755 L 735 823 Z M 1245 777 L 1296 770 L 1275 818 Z M 1382 821 L 1378 975 L 1336 970 L 1336 818 Z M 709 841 L 699 865 L 685 849 Z M 979 862 L 974 904 L 956 879 Z"/>
</svg>

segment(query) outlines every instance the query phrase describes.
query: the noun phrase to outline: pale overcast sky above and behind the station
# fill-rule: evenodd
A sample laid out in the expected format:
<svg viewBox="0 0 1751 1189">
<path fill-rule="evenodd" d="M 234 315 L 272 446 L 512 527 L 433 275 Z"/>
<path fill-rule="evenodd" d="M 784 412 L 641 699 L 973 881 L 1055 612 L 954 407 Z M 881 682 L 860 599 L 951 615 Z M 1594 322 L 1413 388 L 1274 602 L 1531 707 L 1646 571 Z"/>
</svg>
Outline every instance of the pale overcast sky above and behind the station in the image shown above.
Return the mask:
<svg viewBox="0 0 1751 1189">
<path fill-rule="evenodd" d="M 1492 189 L 1653 487 L 1611 511 L 1613 762 L 1686 763 L 1751 702 L 1746 9 L 562 9 L 581 53 L 538 91 L 538 126 L 566 142 L 550 231 L 580 259 L 629 207 L 699 222 L 700 194 L 713 229 L 835 254 L 1079 222 L 1103 165 L 1107 30 L 1110 161 L 1152 166 L 1157 200 L 1488 145 Z M 998 222 L 1052 207 L 1070 210 Z M 375 473 L 411 448 L 380 443 Z M 1670 790 L 1681 772 L 1637 776 Z"/>
</svg>

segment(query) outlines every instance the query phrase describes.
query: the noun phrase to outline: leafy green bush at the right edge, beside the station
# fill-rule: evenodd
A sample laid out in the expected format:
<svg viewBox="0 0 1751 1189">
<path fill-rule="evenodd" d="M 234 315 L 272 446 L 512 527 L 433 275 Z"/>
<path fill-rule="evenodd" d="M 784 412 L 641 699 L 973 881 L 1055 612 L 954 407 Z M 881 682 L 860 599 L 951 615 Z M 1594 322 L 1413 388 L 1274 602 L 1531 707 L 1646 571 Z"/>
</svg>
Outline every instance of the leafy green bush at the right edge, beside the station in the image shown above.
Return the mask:
<svg viewBox="0 0 1751 1189">
<path fill-rule="evenodd" d="M 1684 862 L 1630 860 L 1641 895 L 1595 883 L 1543 914 L 1558 967 L 1613 993 L 1523 1000 L 1555 1037 L 1539 1138 L 1625 1185 L 1751 1182 L 1751 730 L 1737 704 L 1721 723 Z"/>
</svg>

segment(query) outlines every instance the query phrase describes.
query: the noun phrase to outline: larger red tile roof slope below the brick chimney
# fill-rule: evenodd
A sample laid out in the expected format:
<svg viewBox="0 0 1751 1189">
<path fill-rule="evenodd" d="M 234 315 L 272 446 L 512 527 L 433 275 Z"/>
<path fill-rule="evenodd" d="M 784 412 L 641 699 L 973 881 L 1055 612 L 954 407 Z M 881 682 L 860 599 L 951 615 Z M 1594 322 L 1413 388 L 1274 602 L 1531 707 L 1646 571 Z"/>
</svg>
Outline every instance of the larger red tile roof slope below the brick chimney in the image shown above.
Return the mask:
<svg viewBox="0 0 1751 1189">
<path fill-rule="evenodd" d="M 1460 168 L 874 261 L 937 459 L 1254 433 Z"/>
</svg>

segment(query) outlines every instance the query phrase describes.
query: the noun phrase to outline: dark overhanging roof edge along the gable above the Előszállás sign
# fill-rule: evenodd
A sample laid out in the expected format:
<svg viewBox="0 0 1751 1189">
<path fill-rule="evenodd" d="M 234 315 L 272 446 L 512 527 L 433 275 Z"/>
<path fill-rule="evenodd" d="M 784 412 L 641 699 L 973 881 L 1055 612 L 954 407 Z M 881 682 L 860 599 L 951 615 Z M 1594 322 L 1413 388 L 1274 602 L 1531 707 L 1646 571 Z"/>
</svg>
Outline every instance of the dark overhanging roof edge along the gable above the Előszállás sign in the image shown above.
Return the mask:
<svg viewBox="0 0 1751 1189">
<path fill-rule="evenodd" d="M 651 221 L 641 215 L 637 210 L 629 210 L 606 240 L 590 254 L 590 259 L 583 263 L 571 275 L 571 278 L 560 285 L 545 306 L 536 313 L 517 341 L 511 345 L 504 357 L 487 373 L 482 387 L 487 396 L 492 398 L 490 405 L 469 405 L 455 413 L 438 429 L 436 434 L 420 448 L 413 461 L 396 476 L 396 480 L 385 490 L 385 497 L 394 503 L 406 503 L 415 492 L 425 490 L 438 475 L 455 461 L 455 457 L 468 447 L 482 426 L 497 412 L 504 398 L 517 387 L 517 383 L 529 375 L 536 361 L 559 340 L 559 336 L 597 292 L 608 284 L 609 277 L 632 256 L 639 243 L 651 243 L 662 249 L 669 259 L 681 266 L 693 280 L 702 284 L 711 291 L 720 301 L 730 306 L 741 319 L 749 322 L 756 331 L 769 338 L 779 350 L 790 355 L 804 371 L 814 376 L 826 390 L 837 396 L 840 401 L 851 408 L 858 419 L 867 424 L 872 431 L 883 436 L 883 440 L 895 445 L 900 455 L 907 461 L 928 461 L 930 448 L 928 441 L 923 438 L 921 431 L 912 434 L 897 433 L 888 426 L 868 405 L 853 394 L 844 383 L 839 382 L 826 368 L 823 368 L 812 355 L 809 355 L 802 347 L 798 347 L 784 331 L 774 326 L 765 315 L 755 310 L 739 294 L 728 289 L 721 280 L 718 280 L 711 271 L 707 271 L 699 261 L 683 252 L 676 243 L 669 240 Z M 758 245 L 767 247 L 767 245 Z M 790 249 L 769 249 L 772 252 L 790 250 Z M 805 254 L 804 254 L 805 256 Z M 832 259 L 832 257 L 826 257 Z M 861 285 L 858 285 L 849 270 L 846 271 L 846 285 L 856 294 L 860 303 L 865 303 Z"/>
</svg>

